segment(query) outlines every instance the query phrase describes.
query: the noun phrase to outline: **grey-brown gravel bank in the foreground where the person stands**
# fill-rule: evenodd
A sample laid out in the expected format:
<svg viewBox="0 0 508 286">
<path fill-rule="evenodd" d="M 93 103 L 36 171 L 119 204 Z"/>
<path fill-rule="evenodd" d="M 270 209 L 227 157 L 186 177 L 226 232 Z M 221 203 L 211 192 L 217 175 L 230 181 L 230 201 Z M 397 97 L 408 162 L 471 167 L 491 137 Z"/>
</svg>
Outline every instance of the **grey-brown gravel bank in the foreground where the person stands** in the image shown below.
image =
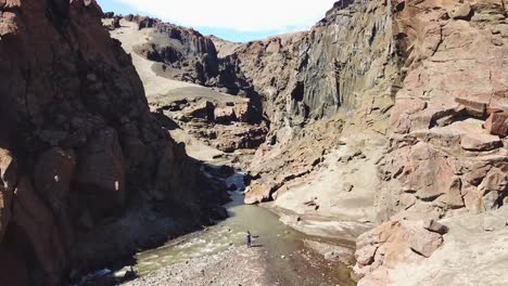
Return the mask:
<svg viewBox="0 0 508 286">
<path fill-rule="evenodd" d="M 288 275 L 274 266 L 277 260 L 294 264 L 293 273 Z M 299 268 L 304 264 L 307 266 Z M 305 248 L 274 257 L 263 246 L 232 246 L 216 255 L 168 265 L 125 285 L 353 285 L 340 280 L 332 265 Z"/>
</svg>

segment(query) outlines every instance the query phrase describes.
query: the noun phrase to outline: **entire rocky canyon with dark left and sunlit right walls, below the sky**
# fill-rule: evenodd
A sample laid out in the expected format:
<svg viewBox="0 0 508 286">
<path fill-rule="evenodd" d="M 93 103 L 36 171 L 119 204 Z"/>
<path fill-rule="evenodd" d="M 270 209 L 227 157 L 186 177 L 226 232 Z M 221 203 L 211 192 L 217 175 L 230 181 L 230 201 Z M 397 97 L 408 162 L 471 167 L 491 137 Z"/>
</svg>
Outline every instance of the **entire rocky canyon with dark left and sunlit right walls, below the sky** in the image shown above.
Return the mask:
<svg viewBox="0 0 508 286">
<path fill-rule="evenodd" d="M 223 227 L 236 190 L 305 237 L 295 257 L 351 276 L 314 283 L 503 285 L 507 16 L 341 0 L 308 31 L 236 43 L 94 0 L 0 0 L 0 285 L 68 284 Z M 243 283 L 271 284 L 249 251 Z M 132 285 L 181 283 L 168 272 Z"/>
</svg>

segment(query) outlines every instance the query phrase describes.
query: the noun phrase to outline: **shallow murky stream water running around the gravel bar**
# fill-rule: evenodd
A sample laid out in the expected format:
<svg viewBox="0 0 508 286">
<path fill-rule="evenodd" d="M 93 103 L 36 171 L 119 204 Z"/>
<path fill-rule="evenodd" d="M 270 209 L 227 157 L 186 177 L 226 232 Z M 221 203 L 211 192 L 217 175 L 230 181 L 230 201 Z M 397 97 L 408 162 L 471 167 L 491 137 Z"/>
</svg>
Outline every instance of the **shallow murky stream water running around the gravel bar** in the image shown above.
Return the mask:
<svg viewBox="0 0 508 286">
<path fill-rule="evenodd" d="M 228 184 L 243 190 L 243 177 L 233 176 Z M 228 219 L 138 253 L 134 269 L 143 276 L 173 263 L 244 245 L 245 233 L 250 231 L 255 237 L 253 245 L 265 250 L 267 268 L 275 280 L 281 282 L 279 285 L 354 285 L 347 268 L 304 250 L 306 236 L 281 223 L 275 213 L 263 207 L 244 205 L 240 191 L 232 192 L 231 199 L 226 206 Z"/>
</svg>

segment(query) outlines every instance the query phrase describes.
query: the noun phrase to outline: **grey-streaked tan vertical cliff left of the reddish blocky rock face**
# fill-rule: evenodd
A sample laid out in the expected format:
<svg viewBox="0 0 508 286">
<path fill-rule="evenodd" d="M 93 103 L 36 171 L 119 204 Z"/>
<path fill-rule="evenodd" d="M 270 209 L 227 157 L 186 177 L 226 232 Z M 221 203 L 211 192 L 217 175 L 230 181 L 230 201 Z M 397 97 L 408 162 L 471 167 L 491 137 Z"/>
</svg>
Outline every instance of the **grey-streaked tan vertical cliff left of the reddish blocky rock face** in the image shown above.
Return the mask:
<svg viewBox="0 0 508 286">
<path fill-rule="evenodd" d="M 241 68 L 253 79 L 271 121 L 268 141 L 252 164 L 255 173 L 267 177 L 263 180 L 272 180 L 266 158 L 278 158 L 301 134 L 308 133 L 306 127 L 315 120 L 339 117 L 346 121 L 341 129 L 327 131 L 334 142 L 340 141 L 343 129 L 386 133 L 386 112 L 393 106 L 392 98 L 402 77 L 401 55 L 392 38 L 391 9 L 385 1 L 338 2 L 309 32 L 276 37 L 247 44 L 242 52 L 237 50 Z M 255 60 L 258 54 L 261 64 Z M 315 143 L 318 153 L 336 146 L 320 143 Z M 289 160 L 287 169 L 294 169 L 293 160 Z M 269 199 L 275 191 L 263 197 Z M 249 202 L 256 202 L 249 196 Z"/>
</svg>

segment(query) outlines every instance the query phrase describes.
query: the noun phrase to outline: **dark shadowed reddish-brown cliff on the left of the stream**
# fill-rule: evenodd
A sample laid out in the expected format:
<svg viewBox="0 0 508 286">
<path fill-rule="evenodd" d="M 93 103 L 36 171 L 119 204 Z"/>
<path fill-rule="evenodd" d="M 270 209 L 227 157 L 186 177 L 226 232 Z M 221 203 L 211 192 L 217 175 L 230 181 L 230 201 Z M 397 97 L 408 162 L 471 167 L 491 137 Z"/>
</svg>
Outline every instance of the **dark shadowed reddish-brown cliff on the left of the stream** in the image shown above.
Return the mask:
<svg viewBox="0 0 508 286">
<path fill-rule="evenodd" d="M 145 216 L 201 223 L 218 204 L 101 16 L 92 0 L 0 1 L 1 285 L 66 283 L 177 224 Z"/>
</svg>

